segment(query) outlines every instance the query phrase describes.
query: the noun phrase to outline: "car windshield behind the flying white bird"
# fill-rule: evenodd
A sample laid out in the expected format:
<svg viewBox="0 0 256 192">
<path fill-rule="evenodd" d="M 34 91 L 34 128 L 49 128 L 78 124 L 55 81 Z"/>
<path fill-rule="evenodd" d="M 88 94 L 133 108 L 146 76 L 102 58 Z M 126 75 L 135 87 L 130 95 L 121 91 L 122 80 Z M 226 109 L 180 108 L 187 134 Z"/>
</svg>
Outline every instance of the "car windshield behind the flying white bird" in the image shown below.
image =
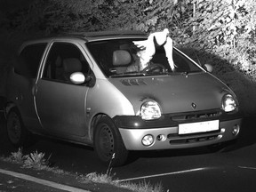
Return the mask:
<svg viewBox="0 0 256 192">
<path fill-rule="evenodd" d="M 172 60 L 175 68 L 172 69 L 166 57 L 164 46 L 155 46 L 155 54 L 150 57 L 146 66 L 141 67 L 141 62 L 144 59 L 140 55 L 145 49 L 138 48 L 134 44 L 136 41 L 141 41 L 141 39 L 112 39 L 90 42 L 86 45 L 94 60 L 108 77 L 160 76 L 202 71 L 175 48 L 172 49 Z"/>
</svg>

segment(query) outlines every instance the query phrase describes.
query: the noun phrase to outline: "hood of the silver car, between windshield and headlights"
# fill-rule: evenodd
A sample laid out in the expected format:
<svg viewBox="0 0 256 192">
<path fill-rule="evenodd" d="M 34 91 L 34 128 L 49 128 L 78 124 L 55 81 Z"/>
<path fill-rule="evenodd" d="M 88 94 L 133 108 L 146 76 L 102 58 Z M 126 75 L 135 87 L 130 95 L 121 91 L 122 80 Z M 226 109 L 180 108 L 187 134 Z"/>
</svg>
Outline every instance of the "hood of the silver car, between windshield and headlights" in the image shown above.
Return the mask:
<svg viewBox="0 0 256 192">
<path fill-rule="evenodd" d="M 222 96 L 232 92 L 208 73 L 123 77 L 109 81 L 130 100 L 135 114 L 146 100 L 156 100 L 163 114 L 221 108 Z"/>
</svg>

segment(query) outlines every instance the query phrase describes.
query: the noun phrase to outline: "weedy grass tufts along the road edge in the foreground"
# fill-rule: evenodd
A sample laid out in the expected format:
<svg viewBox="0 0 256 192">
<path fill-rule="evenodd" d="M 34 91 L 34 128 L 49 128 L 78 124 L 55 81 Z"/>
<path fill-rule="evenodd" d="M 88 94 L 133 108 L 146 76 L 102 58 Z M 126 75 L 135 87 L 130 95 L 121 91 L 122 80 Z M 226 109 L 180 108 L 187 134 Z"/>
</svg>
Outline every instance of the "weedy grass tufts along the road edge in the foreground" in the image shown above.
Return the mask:
<svg viewBox="0 0 256 192">
<path fill-rule="evenodd" d="M 36 170 L 44 170 L 49 172 L 54 172 L 58 174 L 63 174 L 68 172 L 64 172 L 56 167 L 51 167 L 50 165 L 50 157 L 45 158 L 45 154 L 37 151 L 32 152 L 28 155 L 24 155 L 22 152 L 22 148 L 19 148 L 17 152 L 12 152 L 11 156 L 8 156 L 6 158 L 1 157 L 2 160 L 7 162 L 12 162 L 16 164 L 22 164 L 22 167 L 24 168 L 30 168 L 30 169 L 36 169 Z M 113 158 L 115 158 L 115 155 L 113 155 Z M 88 182 L 94 182 L 94 183 L 103 183 L 103 184 L 110 184 L 113 186 L 116 186 L 117 188 L 126 188 L 130 189 L 132 191 L 138 191 L 138 192 L 164 192 L 164 188 L 161 183 L 152 185 L 150 182 L 147 182 L 146 180 L 141 181 L 140 183 L 132 183 L 132 182 L 119 182 L 117 180 L 114 180 L 113 177 L 115 174 L 111 174 L 111 161 L 108 164 L 108 170 L 106 173 L 97 173 L 97 172 L 90 172 L 86 175 L 79 175 L 77 177 L 77 180 L 82 183 L 88 183 Z M 168 192 L 169 190 L 167 190 Z"/>
</svg>

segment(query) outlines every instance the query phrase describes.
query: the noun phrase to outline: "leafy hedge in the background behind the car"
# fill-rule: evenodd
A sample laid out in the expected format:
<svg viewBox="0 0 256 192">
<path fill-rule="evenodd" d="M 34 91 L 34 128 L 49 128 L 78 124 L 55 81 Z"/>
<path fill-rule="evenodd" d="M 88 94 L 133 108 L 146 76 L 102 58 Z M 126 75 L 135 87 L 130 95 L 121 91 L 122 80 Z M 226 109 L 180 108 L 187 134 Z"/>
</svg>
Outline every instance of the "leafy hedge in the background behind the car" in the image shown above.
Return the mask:
<svg viewBox="0 0 256 192">
<path fill-rule="evenodd" d="M 176 46 L 193 47 L 217 72 L 223 60 L 253 78 L 256 73 L 254 0 L 36 0 L 6 12 L 0 26 L 50 35 L 68 31 L 170 28 Z M 217 60 L 221 59 L 221 60 Z M 217 61 L 216 61 L 217 60 Z M 226 72 L 226 71 L 225 71 Z"/>
</svg>

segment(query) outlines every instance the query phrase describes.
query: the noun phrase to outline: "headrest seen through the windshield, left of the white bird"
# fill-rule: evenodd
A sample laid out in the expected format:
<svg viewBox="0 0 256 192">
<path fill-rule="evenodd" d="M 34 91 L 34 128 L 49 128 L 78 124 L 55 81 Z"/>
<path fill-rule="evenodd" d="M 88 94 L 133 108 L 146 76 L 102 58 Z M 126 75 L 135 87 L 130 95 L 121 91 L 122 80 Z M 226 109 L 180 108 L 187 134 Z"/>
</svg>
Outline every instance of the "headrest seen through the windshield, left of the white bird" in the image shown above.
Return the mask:
<svg viewBox="0 0 256 192">
<path fill-rule="evenodd" d="M 131 54 L 125 50 L 116 50 L 113 52 L 113 65 L 128 65 L 131 62 Z"/>
</svg>

